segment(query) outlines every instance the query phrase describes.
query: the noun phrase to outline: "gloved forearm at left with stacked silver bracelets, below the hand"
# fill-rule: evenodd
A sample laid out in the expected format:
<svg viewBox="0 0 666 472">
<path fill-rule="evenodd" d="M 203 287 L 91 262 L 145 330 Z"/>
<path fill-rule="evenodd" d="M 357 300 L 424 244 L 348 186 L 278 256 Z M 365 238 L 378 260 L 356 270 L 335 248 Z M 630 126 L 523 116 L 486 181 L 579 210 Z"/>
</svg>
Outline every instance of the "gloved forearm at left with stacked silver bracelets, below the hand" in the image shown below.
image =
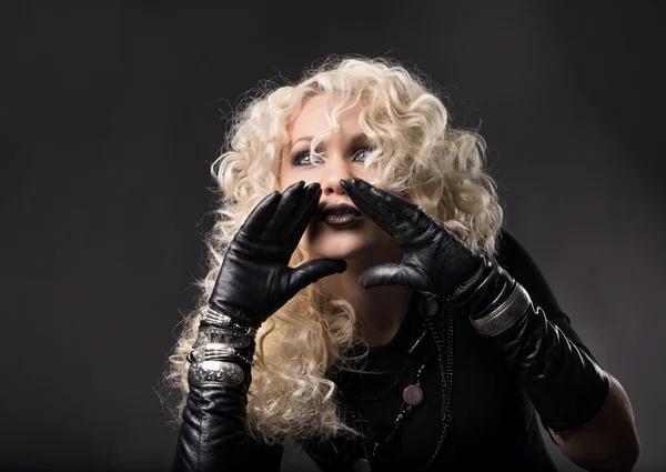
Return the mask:
<svg viewBox="0 0 666 472">
<path fill-rule="evenodd" d="M 174 472 L 278 471 L 281 446 L 248 434 L 248 391 L 252 382 L 253 334 L 208 313 L 188 355 L 189 385 L 173 462 Z M 229 351 L 231 349 L 231 351 Z"/>
</svg>

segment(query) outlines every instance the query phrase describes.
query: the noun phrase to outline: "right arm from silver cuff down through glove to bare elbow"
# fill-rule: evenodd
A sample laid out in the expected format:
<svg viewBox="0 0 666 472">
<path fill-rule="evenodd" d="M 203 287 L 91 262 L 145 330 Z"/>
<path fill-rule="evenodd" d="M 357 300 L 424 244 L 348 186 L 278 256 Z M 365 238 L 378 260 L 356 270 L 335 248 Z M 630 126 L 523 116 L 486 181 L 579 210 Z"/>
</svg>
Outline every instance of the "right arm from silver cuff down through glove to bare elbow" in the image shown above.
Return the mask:
<svg viewBox="0 0 666 472">
<path fill-rule="evenodd" d="M 588 470 L 630 470 L 638 440 L 619 383 L 505 272 L 486 268 L 472 285 L 472 323 L 504 354 L 563 452 Z"/>
</svg>

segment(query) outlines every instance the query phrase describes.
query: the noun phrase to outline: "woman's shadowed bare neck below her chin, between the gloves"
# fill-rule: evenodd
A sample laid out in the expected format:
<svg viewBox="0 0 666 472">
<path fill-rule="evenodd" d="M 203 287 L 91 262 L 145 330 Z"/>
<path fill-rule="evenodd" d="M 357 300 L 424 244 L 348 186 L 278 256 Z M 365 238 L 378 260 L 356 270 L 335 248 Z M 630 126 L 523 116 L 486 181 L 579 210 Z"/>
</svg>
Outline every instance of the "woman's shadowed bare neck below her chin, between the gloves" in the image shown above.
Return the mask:
<svg viewBox="0 0 666 472">
<path fill-rule="evenodd" d="M 347 269 L 320 280 L 326 290 L 346 300 L 361 323 L 361 337 L 374 348 L 387 344 L 400 329 L 410 308 L 414 289 L 402 285 L 380 285 L 364 289 L 359 277 L 371 267 L 360 260 L 347 261 Z"/>
</svg>

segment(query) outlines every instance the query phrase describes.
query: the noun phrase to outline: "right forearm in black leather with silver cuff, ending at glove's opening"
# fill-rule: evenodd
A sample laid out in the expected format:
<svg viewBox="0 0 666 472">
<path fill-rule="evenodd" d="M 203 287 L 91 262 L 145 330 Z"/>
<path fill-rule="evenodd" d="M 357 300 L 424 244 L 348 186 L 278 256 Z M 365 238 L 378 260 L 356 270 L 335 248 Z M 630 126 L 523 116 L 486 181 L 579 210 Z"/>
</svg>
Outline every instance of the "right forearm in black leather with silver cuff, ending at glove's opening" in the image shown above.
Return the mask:
<svg viewBox="0 0 666 472">
<path fill-rule="evenodd" d="M 484 263 L 454 301 L 498 348 L 546 426 L 574 429 L 601 410 L 608 394 L 606 373 L 502 268 Z"/>
</svg>

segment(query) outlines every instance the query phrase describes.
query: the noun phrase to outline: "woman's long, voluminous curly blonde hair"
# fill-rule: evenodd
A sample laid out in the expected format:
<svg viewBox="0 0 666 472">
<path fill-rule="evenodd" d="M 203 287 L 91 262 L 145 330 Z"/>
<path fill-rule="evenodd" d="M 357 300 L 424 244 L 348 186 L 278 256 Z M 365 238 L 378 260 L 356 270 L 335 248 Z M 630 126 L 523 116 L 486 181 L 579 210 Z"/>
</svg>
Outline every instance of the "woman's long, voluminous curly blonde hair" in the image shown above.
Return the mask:
<svg viewBox="0 0 666 472">
<path fill-rule="evenodd" d="M 176 386 L 179 413 L 188 394 L 185 359 L 196 339 L 201 309 L 209 300 L 225 250 L 250 211 L 280 190 L 279 169 L 290 143 L 287 124 L 311 97 L 342 96 L 362 103 L 360 125 L 374 150 L 365 160 L 374 184 L 402 194 L 445 224 L 470 247 L 493 259 L 502 208 L 493 179 L 484 171 L 485 143 L 475 131 L 451 127 L 448 113 L 426 79 L 391 60 L 329 58 L 290 87 L 273 88 L 252 100 L 233 121 L 231 139 L 212 164 L 219 184 L 216 222 L 206 234 L 208 274 L 198 307 L 184 319 L 170 355 L 167 380 Z M 332 120 L 344 110 L 333 110 Z M 312 140 L 315 151 L 322 137 Z M 301 248 L 290 265 L 307 261 Z M 248 431 L 268 444 L 322 441 L 360 434 L 346 424 L 335 402 L 330 373 L 357 365 L 347 358 L 363 343 L 349 302 L 314 283 L 269 318 L 256 337 Z"/>
</svg>

